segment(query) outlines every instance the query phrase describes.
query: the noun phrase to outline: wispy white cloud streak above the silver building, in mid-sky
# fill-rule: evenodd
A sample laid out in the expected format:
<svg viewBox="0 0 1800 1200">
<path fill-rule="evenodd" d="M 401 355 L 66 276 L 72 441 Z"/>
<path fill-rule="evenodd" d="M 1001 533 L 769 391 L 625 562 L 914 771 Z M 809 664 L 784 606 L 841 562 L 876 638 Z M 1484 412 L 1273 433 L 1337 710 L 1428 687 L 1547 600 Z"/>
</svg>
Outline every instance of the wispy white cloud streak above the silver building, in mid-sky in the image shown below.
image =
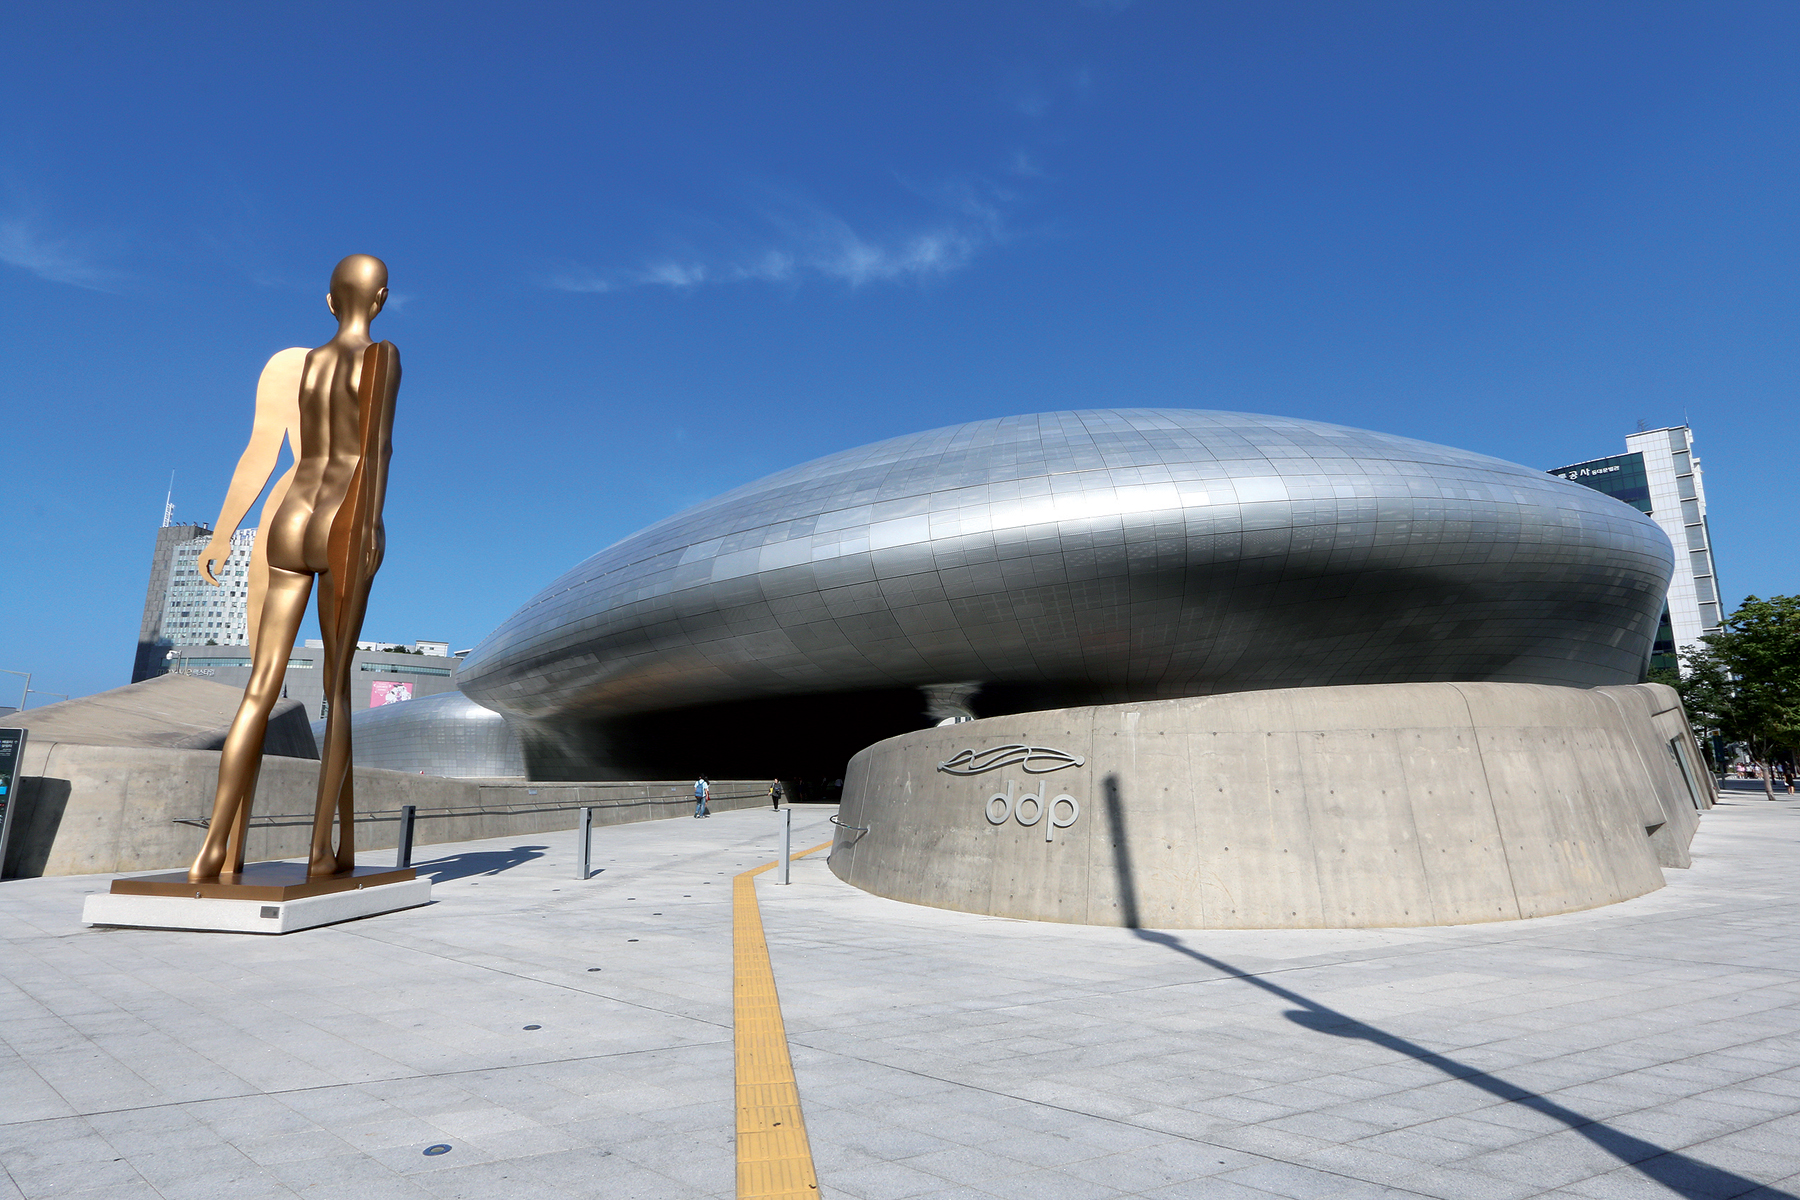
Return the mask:
<svg viewBox="0 0 1800 1200">
<path fill-rule="evenodd" d="M 1001 212 L 1004 193 L 967 182 L 909 185 L 909 191 L 934 210 L 931 219 L 913 228 L 877 234 L 817 205 L 783 198 L 763 205 L 754 218 L 758 232 L 740 237 L 736 248 L 659 255 L 621 270 L 567 264 L 545 273 L 542 282 L 558 291 L 585 293 L 736 282 L 799 284 L 808 279 L 850 288 L 925 282 L 961 270 L 1006 236 Z"/>
</svg>

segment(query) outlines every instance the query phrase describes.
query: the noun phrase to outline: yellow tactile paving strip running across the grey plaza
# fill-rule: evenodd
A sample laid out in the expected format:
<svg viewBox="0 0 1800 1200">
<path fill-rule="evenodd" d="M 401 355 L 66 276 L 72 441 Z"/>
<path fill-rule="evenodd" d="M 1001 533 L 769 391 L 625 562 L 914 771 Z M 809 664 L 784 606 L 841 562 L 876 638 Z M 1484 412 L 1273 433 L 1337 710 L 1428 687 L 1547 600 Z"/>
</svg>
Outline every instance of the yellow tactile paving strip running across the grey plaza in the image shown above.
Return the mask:
<svg viewBox="0 0 1800 1200">
<path fill-rule="evenodd" d="M 828 847 L 819 842 L 794 858 Z M 731 882 L 731 1009 L 738 1047 L 738 1200 L 817 1196 L 806 1119 L 787 1052 L 787 1025 L 776 973 L 769 966 L 756 876 L 769 862 Z"/>
</svg>

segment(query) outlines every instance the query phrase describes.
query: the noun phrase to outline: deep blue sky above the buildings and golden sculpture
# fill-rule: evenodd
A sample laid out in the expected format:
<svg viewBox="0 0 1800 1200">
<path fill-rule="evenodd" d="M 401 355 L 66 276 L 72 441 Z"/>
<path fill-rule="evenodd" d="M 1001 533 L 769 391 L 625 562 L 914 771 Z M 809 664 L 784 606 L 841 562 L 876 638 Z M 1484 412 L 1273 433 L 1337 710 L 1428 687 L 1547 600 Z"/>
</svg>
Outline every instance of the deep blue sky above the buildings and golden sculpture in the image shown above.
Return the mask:
<svg viewBox="0 0 1800 1200">
<path fill-rule="evenodd" d="M 1690 419 L 1728 599 L 1800 592 L 1796 61 L 1787 2 L 11 5 L 0 667 L 130 678 L 169 471 L 212 522 L 351 252 L 405 362 L 371 637 L 1118 405 L 1541 468 Z"/>
</svg>

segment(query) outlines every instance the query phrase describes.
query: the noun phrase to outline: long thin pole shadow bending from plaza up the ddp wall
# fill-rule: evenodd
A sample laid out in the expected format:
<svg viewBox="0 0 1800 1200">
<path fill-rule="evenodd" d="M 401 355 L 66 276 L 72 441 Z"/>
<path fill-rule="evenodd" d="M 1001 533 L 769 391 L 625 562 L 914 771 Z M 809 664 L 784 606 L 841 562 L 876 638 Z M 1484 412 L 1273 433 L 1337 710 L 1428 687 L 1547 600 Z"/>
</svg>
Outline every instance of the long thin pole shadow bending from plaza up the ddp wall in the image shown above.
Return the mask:
<svg viewBox="0 0 1800 1200">
<path fill-rule="evenodd" d="M 1730 1196 L 1744 1196 L 1746 1193 L 1757 1193 L 1764 1200 L 1796 1200 L 1791 1193 L 1777 1191 L 1768 1184 L 1759 1184 L 1753 1178 L 1744 1178 L 1733 1171 L 1724 1171 L 1715 1166 L 1699 1162 L 1674 1150 L 1665 1150 L 1654 1142 L 1647 1142 L 1642 1137 L 1633 1137 L 1620 1130 L 1611 1128 L 1604 1121 L 1582 1115 L 1573 1108 L 1559 1105 L 1553 1099 L 1539 1096 L 1530 1088 L 1523 1088 L 1516 1083 L 1507 1083 L 1505 1079 L 1492 1076 L 1469 1063 L 1456 1061 L 1447 1054 L 1440 1054 L 1433 1049 L 1409 1042 L 1402 1036 L 1391 1034 L 1386 1029 L 1361 1022 L 1346 1013 L 1319 1004 L 1318 1000 L 1309 1000 L 1307 997 L 1283 988 L 1267 979 L 1244 972 L 1229 963 L 1202 954 L 1193 946 L 1184 945 L 1174 934 L 1165 934 L 1161 930 L 1148 930 L 1138 927 L 1138 883 L 1132 876 L 1130 865 L 1130 846 L 1125 840 L 1125 804 L 1120 795 L 1118 775 L 1109 774 L 1103 781 L 1105 792 L 1105 810 L 1107 810 L 1107 829 L 1112 837 L 1112 869 L 1116 873 L 1116 885 L 1120 894 L 1120 912 L 1125 916 L 1125 927 L 1132 930 L 1141 941 L 1165 946 L 1175 954 L 1184 954 L 1195 963 L 1204 963 L 1215 972 L 1229 975 L 1242 981 L 1253 988 L 1260 988 L 1273 997 L 1278 997 L 1298 1007 L 1291 1007 L 1282 1015 L 1300 1025 L 1301 1029 L 1310 1029 L 1312 1033 L 1323 1033 L 1334 1038 L 1359 1038 L 1372 1045 L 1379 1045 L 1395 1054 L 1411 1058 L 1413 1061 L 1424 1063 L 1435 1070 L 1444 1072 L 1451 1079 L 1460 1079 L 1471 1087 L 1481 1088 L 1489 1096 L 1501 1099 L 1508 1105 L 1519 1105 L 1521 1108 L 1530 1108 L 1532 1112 L 1543 1114 L 1552 1121 L 1559 1121 L 1571 1132 L 1586 1137 L 1589 1142 L 1613 1155 L 1625 1166 L 1643 1173 L 1645 1177 L 1656 1180 L 1669 1191 L 1687 1196 L 1688 1200 L 1726 1200 Z"/>
</svg>

